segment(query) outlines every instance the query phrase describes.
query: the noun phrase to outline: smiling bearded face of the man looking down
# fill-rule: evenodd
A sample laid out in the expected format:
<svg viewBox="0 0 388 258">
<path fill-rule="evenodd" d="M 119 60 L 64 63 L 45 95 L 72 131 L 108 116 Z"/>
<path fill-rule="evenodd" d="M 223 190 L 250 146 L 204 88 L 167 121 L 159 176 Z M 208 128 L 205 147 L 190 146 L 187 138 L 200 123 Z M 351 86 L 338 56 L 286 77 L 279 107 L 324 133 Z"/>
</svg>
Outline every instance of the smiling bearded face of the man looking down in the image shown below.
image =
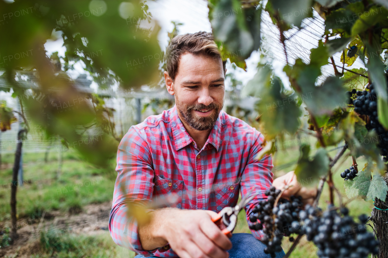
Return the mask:
<svg viewBox="0 0 388 258">
<path fill-rule="evenodd" d="M 168 92 L 175 95 L 180 118 L 198 131 L 213 128 L 225 96 L 221 59 L 184 53 L 175 81 L 167 72 L 165 79 Z"/>
</svg>

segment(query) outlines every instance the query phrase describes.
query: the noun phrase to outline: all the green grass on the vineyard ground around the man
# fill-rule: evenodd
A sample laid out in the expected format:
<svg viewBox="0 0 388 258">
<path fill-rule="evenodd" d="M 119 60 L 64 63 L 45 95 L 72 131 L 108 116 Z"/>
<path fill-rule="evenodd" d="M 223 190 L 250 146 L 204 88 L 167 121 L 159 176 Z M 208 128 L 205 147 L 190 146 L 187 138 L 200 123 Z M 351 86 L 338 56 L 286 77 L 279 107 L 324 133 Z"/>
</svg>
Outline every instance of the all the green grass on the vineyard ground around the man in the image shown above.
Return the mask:
<svg viewBox="0 0 388 258">
<path fill-rule="evenodd" d="M 308 138 L 310 140 L 311 138 Z M 285 139 L 288 141 L 288 139 Z M 307 139 L 304 139 L 307 141 Z M 314 141 L 310 142 L 314 146 Z M 286 144 L 284 144 L 285 146 Z M 289 146 L 291 145 L 291 147 Z M 274 164 L 290 164 L 282 167 L 281 170 L 274 172 L 275 177 L 293 170 L 296 163 L 292 164 L 297 158 L 299 147 L 296 144 L 289 144 L 286 151 L 280 150 L 274 155 Z M 312 153 L 314 153 L 312 149 Z M 331 157 L 334 157 L 336 150 L 331 151 Z M 2 155 L 2 162 L 8 163 L 7 169 L 0 170 L 0 223 L 10 220 L 10 188 L 8 183 L 12 177 L 12 165 L 14 155 Z M 58 167 L 57 153 L 50 153 L 49 162 L 44 162 L 43 153 L 25 153 L 24 162 L 24 186 L 17 189 L 17 213 L 19 218 L 27 217 L 39 219 L 43 211 L 50 212 L 60 210 L 68 214 L 77 214 L 82 212 L 83 206 L 90 203 L 102 203 L 109 201 L 113 196 L 114 180 L 116 172 L 115 163 L 109 169 L 96 168 L 87 162 L 81 160 L 78 155 L 71 152 L 65 152 L 63 155 L 62 173 L 59 179 L 56 179 Z M 365 160 L 357 160 L 359 168 L 364 167 Z M 346 194 L 343 188 L 343 179 L 340 172 L 352 164 L 351 157 L 346 160 L 340 160 L 333 167 L 333 180 L 335 186 L 342 193 L 343 201 L 346 202 Z M 305 186 L 308 186 L 307 184 Z M 316 184 L 315 184 L 316 186 Z M 326 201 L 329 199 L 327 184 L 324 187 L 320 198 L 319 206 L 326 208 Z M 338 205 L 338 196 L 335 195 L 335 204 Z M 370 214 L 373 207 L 373 201 L 364 201 L 360 198 L 353 200 L 348 204 L 350 215 L 357 217 L 365 213 Z M 371 230 L 371 229 L 368 229 Z M 245 213 L 239 214 L 235 233 L 249 233 Z M 54 229 L 46 230 L 40 236 L 41 250 L 31 257 L 133 257 L 134 253 L 125 248 L 117 246 L 109 232 L 104 232 L 97 236 L 76 236 L 57 234 Z M 282 243 L 284 251 L 287 251 L 292 243 L 285 238 Z M 302 238 L 298 247 L 290 257 L 293 258 L 317 258 L 317 248 L 305 237 Z"/>
</svg>

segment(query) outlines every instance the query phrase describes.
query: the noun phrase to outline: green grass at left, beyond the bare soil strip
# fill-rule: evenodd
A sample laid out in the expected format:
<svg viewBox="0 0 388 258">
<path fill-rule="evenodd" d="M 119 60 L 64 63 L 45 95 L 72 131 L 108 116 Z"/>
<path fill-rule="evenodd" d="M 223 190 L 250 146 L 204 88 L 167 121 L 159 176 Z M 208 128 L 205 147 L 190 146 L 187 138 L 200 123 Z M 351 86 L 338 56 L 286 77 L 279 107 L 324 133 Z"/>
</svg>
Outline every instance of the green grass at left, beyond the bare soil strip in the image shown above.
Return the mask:
<svg viewBox="0 0 388 258">
<path fill-rule="evenodd" d="M 109 169 L 96 168 L 66 153 L 59 179 L 55 179 L 58 161 L 56 153 L 44 162 L 43 153 L 23 155 L 24 186 L 17 188 L 18 217 L 40 218 L 43 211 L 61 210 L 72 214 L 82 211 L 82 206 L 102 203 L 113 197 L 114 164 Z M 9 168 L 0 171 L 0 222 L 10 219 L 10 187 L 12 155 L 3 155 Z M 30 183 L 27 183 L 29 181 Z"/>
</svg>

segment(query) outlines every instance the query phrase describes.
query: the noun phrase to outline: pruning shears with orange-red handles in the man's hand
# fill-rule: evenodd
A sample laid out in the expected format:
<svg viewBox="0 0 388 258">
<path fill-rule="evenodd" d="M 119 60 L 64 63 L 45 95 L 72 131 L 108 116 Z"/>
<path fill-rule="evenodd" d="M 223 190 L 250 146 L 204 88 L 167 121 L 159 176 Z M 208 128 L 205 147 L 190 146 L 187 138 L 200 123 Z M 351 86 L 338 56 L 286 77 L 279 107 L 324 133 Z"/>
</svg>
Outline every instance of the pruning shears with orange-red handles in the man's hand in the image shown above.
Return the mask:
<svg viewBox="0 0 388 258">
<path fill-rule="evenodd" d="M 218 212 L 218 215 L 211 219 L 216 225 L 223 225 L 226 226 L 225 229 L 222 230 L 222 233 L 227 237 L 232 237 L 232 231 L 236 227 L 237 222 L 237 215 L 242 210 L 242 208 L 245 207 L 251 201 L 255 196 L 251 196 L 252 190 L 249 190 L 249 192 L 244 196 L 244 198 L 241 199 L 239 203 L 237 203 L 234 207 L 225 207 L 220 212 Z"/>
</svg>

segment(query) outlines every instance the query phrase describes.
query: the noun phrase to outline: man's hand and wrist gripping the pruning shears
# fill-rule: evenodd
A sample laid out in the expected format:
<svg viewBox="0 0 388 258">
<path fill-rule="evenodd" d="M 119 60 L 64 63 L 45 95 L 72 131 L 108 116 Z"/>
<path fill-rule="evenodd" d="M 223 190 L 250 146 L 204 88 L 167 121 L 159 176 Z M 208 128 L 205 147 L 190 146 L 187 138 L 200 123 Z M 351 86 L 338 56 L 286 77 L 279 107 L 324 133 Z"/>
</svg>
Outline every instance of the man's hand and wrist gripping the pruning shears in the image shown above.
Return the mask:
<svg viewBox="0 0 388 258">
<path fill-rule="evenodd" d="M 217 213 L 208 210 L 165 208 L 152 214 L 150 225 L 139 227 L 145 250 L 169 243 L 180 258 L 227 258 L 232 243 L 211 221 Z"/>
</svg>

